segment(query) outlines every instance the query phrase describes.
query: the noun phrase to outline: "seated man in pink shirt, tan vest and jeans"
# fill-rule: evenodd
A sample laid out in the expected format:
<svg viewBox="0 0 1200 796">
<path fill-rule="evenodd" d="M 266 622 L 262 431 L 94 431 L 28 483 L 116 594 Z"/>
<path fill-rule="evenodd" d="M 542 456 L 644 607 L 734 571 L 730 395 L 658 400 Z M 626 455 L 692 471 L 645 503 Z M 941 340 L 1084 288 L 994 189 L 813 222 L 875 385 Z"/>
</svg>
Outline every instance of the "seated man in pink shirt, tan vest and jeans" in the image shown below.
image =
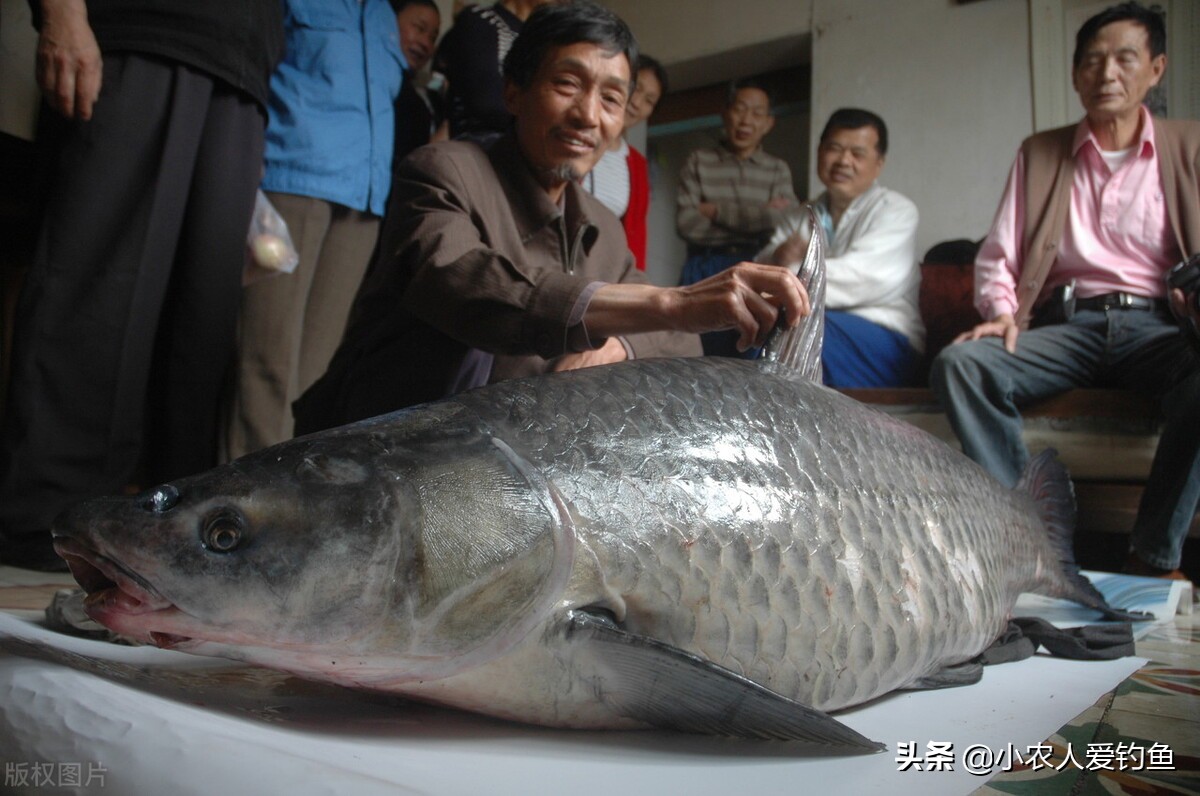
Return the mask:
<svg viewBox="0 0 1200 796">
<path fill-rule="evenodd" d="M 1080 28 L 1073 82 L 1086 116 L 1021 145 L 976 259 L 986 321 L 942 352 L 930 381 L 967 455 L 1008 484 L 1028 457 L 1022 406 L 1076 387 L 1160 395 L 1166 426 L 1126 568 L 1180 577 L 1200 498 L 1200 359 L 1164 275 L 1200 251 L 1200 124 L 1142 106 L 1165 49 L 1162 18 L 1136 4 Z"/>
</svg>

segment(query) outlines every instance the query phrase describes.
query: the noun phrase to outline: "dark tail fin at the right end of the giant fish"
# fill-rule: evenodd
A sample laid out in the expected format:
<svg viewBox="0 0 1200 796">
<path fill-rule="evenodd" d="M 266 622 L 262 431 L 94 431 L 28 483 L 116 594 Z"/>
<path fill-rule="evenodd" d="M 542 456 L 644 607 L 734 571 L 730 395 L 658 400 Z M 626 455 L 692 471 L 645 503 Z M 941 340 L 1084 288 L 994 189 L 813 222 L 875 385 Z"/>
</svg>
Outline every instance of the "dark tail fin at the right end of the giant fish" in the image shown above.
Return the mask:
<svg viewBox="0 0 1200 796">
<path fill-rule="evenodd" d="M 1058 571 L 1050 574 L 1038 593 L 1061 597 L 1093 608 L 1106 618 L 1140 618 L 1109 605 L 1104 595 L 1079 570 L 1075 563 L 1075 487 L 1061 461 L 1058 451 L 1046 448 L 1030 460 L 1016 490 L 1027 493 L 1045 527 L 1050 546 L 1058 563 Z"/>
</svg>

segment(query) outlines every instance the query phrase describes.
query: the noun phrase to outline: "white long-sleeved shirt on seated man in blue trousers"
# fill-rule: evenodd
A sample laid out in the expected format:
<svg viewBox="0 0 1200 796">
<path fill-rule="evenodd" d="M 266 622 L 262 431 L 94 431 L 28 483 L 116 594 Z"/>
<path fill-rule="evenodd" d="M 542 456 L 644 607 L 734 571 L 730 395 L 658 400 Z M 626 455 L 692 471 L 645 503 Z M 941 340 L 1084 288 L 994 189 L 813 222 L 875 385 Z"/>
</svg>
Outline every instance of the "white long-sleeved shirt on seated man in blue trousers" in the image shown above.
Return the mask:
<svg viewBox="0 0 1200 796">
<path fill-rule="evenodd" d="M 815 204 L 829 207 L 822 193 Z M 775 249 L 799 226 L 775 229 L 756 259 L 773 262 Z M 898 331 L 917 351 L 925 349 L 920 321 L 920 268 L 917 263 L 917 205 L 878 182 L 846 208 L 826 255 L 826 306 Z M 799 263 L 780 263 L 798 267 Z"/>
</svg>

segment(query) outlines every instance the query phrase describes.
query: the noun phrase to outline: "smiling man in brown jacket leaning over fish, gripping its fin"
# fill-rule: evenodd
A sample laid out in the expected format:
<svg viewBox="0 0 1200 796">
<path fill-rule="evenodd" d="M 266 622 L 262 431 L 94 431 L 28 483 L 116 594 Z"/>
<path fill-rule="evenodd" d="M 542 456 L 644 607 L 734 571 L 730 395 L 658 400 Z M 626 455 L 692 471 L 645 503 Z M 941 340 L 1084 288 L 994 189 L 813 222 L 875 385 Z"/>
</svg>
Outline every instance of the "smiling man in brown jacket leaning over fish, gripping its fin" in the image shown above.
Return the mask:
<svg viewBox="0 0 1200 796">
<path fill-rule="evenodd" d="M 516 376 L 696 354 L 709 329 L 761 345 L 780 309 L 793 325 L 808 313 L 800 281 L 769 265 L 643 281 L 620 222 L 578 184 L 620 134 L 635 61 L 625 23 L 592 2 L 529 17 L 504 61 L 511 131 L 401 166 L 380 256 L 296 402 L 298 433 Z"/>
</svg>

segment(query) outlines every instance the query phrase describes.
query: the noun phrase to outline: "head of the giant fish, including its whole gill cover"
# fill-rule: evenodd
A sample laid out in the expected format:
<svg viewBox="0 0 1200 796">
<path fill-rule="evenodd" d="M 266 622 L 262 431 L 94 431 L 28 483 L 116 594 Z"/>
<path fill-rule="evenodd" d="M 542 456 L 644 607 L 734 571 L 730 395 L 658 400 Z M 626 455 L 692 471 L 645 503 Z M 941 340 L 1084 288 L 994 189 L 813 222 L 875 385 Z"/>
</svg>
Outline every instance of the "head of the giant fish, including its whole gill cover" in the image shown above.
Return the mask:
<svg viewBox="0 0 1200 796">
<path fill-rule="evenodd" d="M 551 491 L 487 433 L 365 426 L 84 502 L 53 534 L 89 615 L 122 635 L 302 675 L 354 659 L 360 677 L 433 678 L 552 609 L 571 544 Z"/>
</svg>

